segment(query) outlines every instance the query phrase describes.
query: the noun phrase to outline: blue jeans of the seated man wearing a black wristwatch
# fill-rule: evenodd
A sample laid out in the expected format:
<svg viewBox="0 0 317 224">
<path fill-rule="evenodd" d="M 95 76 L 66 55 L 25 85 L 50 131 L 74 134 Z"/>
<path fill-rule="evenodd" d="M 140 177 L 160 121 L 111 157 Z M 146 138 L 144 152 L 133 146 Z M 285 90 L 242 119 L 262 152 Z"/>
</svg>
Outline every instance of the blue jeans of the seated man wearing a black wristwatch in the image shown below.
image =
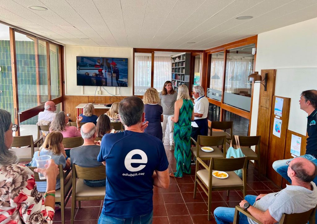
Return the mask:
<svg viewBox="0 0 317 224">
<path fill-rule="evenodd" d="M 253 205 L 254 202 L 256 202 L 256 197 L 255 195 L 246 195 L 245 200 L 247 200 L 250 205 Z M 235 208 L 217 207 L 214 211 L 214 216 L 217 224 L 229 224 L 233 222 Z M 242 213 L 239 214 L 239 224 L 249 224 L 247 216 Z"/>
</svg>

